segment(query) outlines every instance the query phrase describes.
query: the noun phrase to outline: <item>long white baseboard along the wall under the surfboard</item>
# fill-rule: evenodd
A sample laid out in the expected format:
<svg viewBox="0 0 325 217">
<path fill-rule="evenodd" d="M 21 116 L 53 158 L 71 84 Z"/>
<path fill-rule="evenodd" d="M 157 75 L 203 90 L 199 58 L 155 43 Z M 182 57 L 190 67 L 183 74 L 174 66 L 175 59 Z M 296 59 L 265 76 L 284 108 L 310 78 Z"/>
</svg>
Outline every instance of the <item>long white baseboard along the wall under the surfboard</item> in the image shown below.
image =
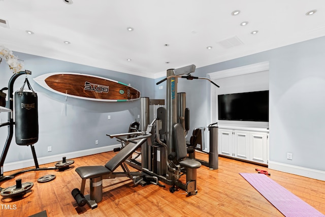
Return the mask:
<svg viewBox="0 0 325 217">
<path fill-rule="evenodd" d="M 112 151 L 114 148 L 118 148 L 118 147 L 121 147 L 121 144 L 109 145 L 109 146 L 104 146 L 104 147 L 99 147 L 99 148 L 91 148 L 91 149 L 86 149 L 86 150 L 81 150 L 81 151 L 73 151 L 73 152 L 68 152 L 68 153 L 62 153 L 62 154 L 57 154 L 57 155 L 53 155 L 53 156 L 38 158 L 37 160 L 38 160 L 39 165 L 48 164 L 48 163 L 52 163 L 52 162 L 56 163 L 58 161 L 62 161 L 62 157 L 67 157 L 67 159 L 79 158 L 79 157 L 88 156 L 91 154 Z M 4 164 L 4 172 L 24 169 L 27 167 L 35 167 L 34 159 Z M 54 167 L 54 164 L 53 164 L 53 167 Z"/>
</svg>

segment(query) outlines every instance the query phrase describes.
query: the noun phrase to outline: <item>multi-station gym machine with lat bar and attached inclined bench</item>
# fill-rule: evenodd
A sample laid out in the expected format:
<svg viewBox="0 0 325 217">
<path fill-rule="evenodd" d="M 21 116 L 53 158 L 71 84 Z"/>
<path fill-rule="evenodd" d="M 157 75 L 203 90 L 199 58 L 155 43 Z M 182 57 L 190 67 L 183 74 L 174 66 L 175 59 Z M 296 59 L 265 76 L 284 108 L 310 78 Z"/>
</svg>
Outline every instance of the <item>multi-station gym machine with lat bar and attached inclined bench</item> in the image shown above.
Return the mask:
<svg viewBox="0 0 325 217">
<path fill-rule="evenodd" d="M 119 141 L 128 143 L 123 147 L 105 166 L 83 166 L 76 169 L 76 172 L 82 178 L 81 189 L 74 189 L 72 195 L 77 204 L 82 206 L 86 203 L 91 208 L 97 207 L 97 203 L 103 199 L 102 180 L 106 178 L 115 178 L 127 176 L 134 181 L 134 184 L 142 184 L 144 179 L 150 178 L 152 183 L 158 184 L 162 181 L 171 185 L 170 192 L 182 189 L 186 192 L 186 196 L 196 195 L 197 191 L 197 169 L 201 167 L 201 163 L 189 159 L 187 157 L 188 148 L 186 145 L 183 125 L 188 131 L 188 118 L 177 118 L 177 79 L 186 78 L 206 79 L 216 85 L 208 78 L 193 77 L 190 73 L 195 71 L 195 66 L 187 66 L 179 69 L 167 70 L 167 77 L 157 84 L 167 80 L 167 102 L 166 108 L 159 107 L 156 117 L 149 124 L 149 105 L 161 105 L 160 100 L 151 100 L 142 97 L 141 100 L 141 132 L 107 134 L 110 138 L 117 138 Z M 218 85 L 216 85 L 218 86 Z M 160 101 L 160 102 L 157 102 Z M 188 115 L 187 115 L 188 116 Z M 182 119 L 178 121 L 177 119 Z M 180 123 L 182 122 L 182 123 Z M 148 126 L 144 129 L 144 126 Z M 125 138 L 129 135 L 137 134 L 134 138 Z M 135 164 L 127 161 L 132 153 L 141 146 L 141 162 Z M 131 165 L 139 170 L 137 175 L 133 175 L 127 169 Z M 121 166 L 122 174 L 114 172 Z M 186 181 L 181 181 L 182 175 L 186 176 Z M 90 179 L 90 194 L 83 196 L 85 191 L 86 179 Z M 161 186 L 161 185 L 160 185 Z"/>
</svg>

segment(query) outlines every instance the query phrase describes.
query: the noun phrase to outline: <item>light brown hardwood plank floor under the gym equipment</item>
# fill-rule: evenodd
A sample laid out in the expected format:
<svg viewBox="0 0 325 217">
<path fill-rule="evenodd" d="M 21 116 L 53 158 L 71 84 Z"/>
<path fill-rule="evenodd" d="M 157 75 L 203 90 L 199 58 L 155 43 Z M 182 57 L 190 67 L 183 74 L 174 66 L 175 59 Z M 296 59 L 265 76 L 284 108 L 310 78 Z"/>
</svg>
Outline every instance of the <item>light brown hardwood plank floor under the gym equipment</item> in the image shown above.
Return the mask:
<svg viewBox="0 0 325 217">
<path fill-rule="evenodd" d="M 325 182 L 297 175 L 274 171 L 261 166 L 219 157 L 219 169 L 198 169 L 198 195 L 185 197 L 180 190 L 169 192 L 169 185 L 133 187 L 127 178 L 103 180 L 103 201 L 91 210 L 88 205 L 78 207 L 71 191 L 80 189 L 81 178 L 75 169 L 85 165 L 105 165 L 114 156 L 105 152 L 76 158 L 74 168 L 59 172 L 53 170 L 25 172 L 1 183 L 2 188 L 15 185 L 15 180 L 34 182 L 32 191 L 23 199 L 11 201 L 2 198 L 0 216 L 21 217 L 46 210 L 47 216 L 283 216 L 259 194 L 239 173 L 255 173 L 255 168 L 265 169 L 271 178 L 305 202 L 325 213 Z M 208 155 L 197 153 L 197 158 L 208 160 Z M 54 162 L 56 163 L 56 162 Z M 40 167 L 53 167 L 53 164 Z M 6 172 L 5 175 L 15 171 Z M 38 183 L 37 179 L 55 174 L 50 182 Z M 270 189 L 272 191 L 272 189 Z M 86 182 L 89 193 L 89 181 Z"/>
</svg>

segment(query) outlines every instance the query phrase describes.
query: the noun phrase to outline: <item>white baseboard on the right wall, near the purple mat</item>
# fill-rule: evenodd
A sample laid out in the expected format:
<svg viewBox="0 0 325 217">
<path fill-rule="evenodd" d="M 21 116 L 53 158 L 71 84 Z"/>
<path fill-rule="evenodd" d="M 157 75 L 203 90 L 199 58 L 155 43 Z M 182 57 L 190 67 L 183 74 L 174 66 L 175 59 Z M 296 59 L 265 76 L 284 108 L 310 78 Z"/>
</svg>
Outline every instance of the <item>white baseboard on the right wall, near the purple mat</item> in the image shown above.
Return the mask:
<svg viewBox="0 0 325 217">
<path fill-rule="evenodd" d="M 325 181 L 325 171 L 269 161 L 269 169 Z"/>
</svg>

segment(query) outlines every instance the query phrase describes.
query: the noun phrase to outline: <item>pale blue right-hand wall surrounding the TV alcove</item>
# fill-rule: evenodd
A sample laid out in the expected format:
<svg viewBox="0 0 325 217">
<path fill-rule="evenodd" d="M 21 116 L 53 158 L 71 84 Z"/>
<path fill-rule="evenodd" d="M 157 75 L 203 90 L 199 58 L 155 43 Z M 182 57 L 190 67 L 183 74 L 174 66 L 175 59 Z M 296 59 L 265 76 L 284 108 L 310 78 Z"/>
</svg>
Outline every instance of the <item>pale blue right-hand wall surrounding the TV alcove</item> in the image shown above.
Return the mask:
<svg viewBox="0 0 325 217">
<path fill-rule="evenodd" d="M 270 162 L 325 171 L 325 37 L 197 69 L 197 76 L 269 61 Z M 242 82 L 245 82 L 243 80 Z M 205 87 L 208 86 L 207 89 Z M 179 82 L 197 126 L 210 120 L 207 84 Z M 189 102 L 189 103 L 188 103 Z M 293 153 L 293 160 L 286 153 Z M 324 174 L 322 175 L 325 180 Z"/>
</svg>

